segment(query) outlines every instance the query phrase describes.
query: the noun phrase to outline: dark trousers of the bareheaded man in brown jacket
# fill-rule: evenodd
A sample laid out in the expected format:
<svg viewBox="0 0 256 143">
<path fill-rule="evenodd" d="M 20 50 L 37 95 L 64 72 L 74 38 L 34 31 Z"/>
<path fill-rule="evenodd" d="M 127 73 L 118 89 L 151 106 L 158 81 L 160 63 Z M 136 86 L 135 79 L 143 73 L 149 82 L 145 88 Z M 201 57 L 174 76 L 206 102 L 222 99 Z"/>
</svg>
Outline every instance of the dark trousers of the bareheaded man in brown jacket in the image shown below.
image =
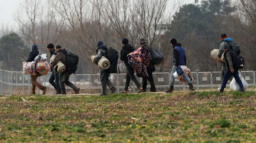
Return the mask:
<svg viewBox="0 0 256 143">
<path fill-rule="evenodd" d="M 59 73 L 59 82 L 62 94 L 66 94 L 65 84 L 71 87 L 73 90 L 77 88 L 72 82 L 69 82 L 69 76 L 66 74 L 66 72 Z"/>
</svg>

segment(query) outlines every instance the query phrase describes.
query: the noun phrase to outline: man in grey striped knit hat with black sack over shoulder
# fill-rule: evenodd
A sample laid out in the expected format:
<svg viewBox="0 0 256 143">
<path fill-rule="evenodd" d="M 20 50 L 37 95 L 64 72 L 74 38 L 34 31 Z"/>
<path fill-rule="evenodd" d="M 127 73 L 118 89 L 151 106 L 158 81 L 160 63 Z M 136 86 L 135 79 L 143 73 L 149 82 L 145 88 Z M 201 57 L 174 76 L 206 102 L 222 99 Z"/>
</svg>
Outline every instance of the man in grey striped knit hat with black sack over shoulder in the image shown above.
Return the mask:
<svg viewBox="0 0 256 143">
<path fill-rule="evenodd" d="M 139 44 L 140 44 L 140 47 L 144 47 L 146 50 L 148 50 L 150 54 L 152 53 L 151 47 L 148 44 L 146 44 L 146 40 L 144 39 L 144 37 L 140 38 Z M 150 83 L 150 91 L 151 92 L 156 92 L 155 82 L 154 82 L 153 75 L 152 75 L 152 72 L 155 72 L 155 65 L 151 61 L 149 61 L 149 65 L 147 67 L 147 72 L 148 72 L 149 77 L 143 77 L 142 78 L 143 92 L 146 92 L 147 80 Z"/>
</svg>

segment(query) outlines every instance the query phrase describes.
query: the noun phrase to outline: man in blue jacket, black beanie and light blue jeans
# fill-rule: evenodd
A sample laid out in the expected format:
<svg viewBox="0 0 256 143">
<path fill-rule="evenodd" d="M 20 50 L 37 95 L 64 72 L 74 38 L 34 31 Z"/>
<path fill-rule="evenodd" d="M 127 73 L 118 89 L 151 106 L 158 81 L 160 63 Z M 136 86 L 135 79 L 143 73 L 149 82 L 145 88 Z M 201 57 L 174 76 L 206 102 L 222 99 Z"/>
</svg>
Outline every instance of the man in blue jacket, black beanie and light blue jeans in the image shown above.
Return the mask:
<svg viewBox="0 0 256 143">
<path fill-rule="evenodd" d="M 181 47 L 180 43 L 177 43 L 177 40 L 172 38 L 170 41 L 172 49 L 173 49 L 173 66 L 172 66 L 172 72 L 170 75 L 171 83 L 169 89 L 164 90 L 166 93 L 172 93 L 173 92 L 173 86 L 175 78 L 173 76 L 173 73 L 176 72 L 176 68 L 178 68 L 181 65 L 186 65 L 186 55 L 185 55 L 185 49 Z M 190 80 L 190 78 L 187 75 L 183 75 L 183 78 L 187 81 L 189 85 L 189 89 L 191 91 L 194 91 L 194 86 Z"/>
</svg>

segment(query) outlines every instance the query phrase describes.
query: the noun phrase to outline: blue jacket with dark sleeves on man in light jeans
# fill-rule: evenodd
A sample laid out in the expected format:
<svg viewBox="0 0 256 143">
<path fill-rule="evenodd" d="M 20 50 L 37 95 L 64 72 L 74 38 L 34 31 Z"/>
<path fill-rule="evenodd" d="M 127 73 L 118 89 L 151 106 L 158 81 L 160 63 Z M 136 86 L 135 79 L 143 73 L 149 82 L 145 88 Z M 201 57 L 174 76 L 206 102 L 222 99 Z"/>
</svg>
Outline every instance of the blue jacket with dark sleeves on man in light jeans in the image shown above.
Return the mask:
<svg viewBox="0 0 256 143">
<path fill-rule="evenodd" d="M 185 49 L 181 47 L 180 43 L 173 45 L 173 65 L 186 65 Z"/>
</svg>

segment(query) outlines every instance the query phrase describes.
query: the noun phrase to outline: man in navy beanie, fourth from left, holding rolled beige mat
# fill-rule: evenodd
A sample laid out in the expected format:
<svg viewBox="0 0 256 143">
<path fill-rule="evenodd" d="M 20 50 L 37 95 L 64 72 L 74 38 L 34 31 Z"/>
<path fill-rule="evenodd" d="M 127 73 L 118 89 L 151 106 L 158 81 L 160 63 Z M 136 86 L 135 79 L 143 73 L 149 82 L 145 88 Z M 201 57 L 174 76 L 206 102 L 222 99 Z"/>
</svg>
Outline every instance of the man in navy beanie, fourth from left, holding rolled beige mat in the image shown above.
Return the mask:
<svg viewBox="0 0 256 143">
<path fill-rule="evenodd" d="M 102 41 L 98 41 L 97 43 L 97 50 L 96 52 L 98 53 L 96 58 L 95 58 L 95 64 L 98 65 L 99 60 L 101 59 L 102 56 L 108 57 L 107 56 L 107 46 L 103 45 Z M 111 90 L 111 94 L 116 92 L 116 87 L 115 85 L 108 79 L 110 72 L 108 72 L 108 69 L 100 69 L 101 75 L 100 75 L 100 80 L 101 80 L 101 86 L 102 86 L 102 93 L 101 95 L 107 95 L 107 85 L 109 89 Z"/>
</svg>

